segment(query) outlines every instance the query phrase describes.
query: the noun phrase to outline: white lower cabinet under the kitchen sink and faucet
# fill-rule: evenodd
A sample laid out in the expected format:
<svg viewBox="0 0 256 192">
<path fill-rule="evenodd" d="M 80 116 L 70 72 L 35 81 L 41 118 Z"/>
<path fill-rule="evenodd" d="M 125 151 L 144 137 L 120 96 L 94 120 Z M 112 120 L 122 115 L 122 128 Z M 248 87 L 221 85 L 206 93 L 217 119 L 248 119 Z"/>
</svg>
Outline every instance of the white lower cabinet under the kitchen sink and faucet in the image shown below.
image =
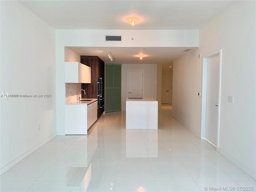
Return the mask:
<svg viewBox="0 0 256 192">
<path fill-rule="evenodd" d="M 97 101 L 89 105 L 65 105 L 65 134 L 86 135 L 87 130 L 97 120 Z"/>
</svg>

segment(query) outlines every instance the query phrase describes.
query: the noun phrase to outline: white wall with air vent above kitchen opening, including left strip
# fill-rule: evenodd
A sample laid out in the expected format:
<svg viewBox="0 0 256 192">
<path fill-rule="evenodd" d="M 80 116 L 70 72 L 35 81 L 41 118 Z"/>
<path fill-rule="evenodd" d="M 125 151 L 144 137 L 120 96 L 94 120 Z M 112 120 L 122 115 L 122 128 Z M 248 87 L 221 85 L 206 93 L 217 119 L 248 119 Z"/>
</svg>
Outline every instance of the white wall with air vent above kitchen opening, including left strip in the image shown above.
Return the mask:
<svg viewBox="0 0 256 192">
<path fill-rule="evenodd" d="M 122 35 L 122 42 L 105 42 L 104 35 Z M 152 38 L 154 37 L 154 38 Z M 131 39 L 134 40 L 131 40 Z M 64 47 L 198 47 L 199 30 L 56 30 L 56 121 L 65 134 Z M 107 53 L 106 53 L 107 54 Z M 158 81 L 159 82 L 159 81 Z"/>
</svg>

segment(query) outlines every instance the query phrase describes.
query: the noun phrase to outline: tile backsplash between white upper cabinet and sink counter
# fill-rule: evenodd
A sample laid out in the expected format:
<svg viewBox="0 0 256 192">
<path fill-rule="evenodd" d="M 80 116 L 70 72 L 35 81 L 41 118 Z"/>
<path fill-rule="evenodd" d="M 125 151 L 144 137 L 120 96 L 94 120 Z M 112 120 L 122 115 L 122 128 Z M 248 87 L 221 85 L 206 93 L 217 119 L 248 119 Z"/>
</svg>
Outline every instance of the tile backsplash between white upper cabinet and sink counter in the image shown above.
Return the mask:
<svg viewBox="0 0 256 192">
<path fill-rule="evenodd" d="M 66 103 L 76 102 L 78 97 L 78 91 L 80 89 L 81 89 L 80 83 L 65 83 Z"/>
</svg>

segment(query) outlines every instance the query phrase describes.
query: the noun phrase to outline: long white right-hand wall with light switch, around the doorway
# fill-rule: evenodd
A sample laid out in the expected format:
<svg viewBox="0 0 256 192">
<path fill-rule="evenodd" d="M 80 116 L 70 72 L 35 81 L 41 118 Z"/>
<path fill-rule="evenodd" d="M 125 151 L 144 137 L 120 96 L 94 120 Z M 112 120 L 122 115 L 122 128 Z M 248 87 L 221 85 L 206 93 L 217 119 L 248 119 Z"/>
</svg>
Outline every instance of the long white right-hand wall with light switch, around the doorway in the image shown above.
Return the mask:
<svg viewBox="0 0 256 192">
<path fill-rule="evenodd" d="M 173 115 L 200 134 L 202 58 L 222 49 L 217 150 L 256 179 L 256 2 L 235 2 L 200 30 L 200 46 L 174 60 Z M 198 53 L 202 58 L 198 60 Z M 203 94 L 203 93 L 202 93 Z M 234 96 L 234 104 L 228 96 Z M 182 110 L 185 114 L 182 115 Z"/>
</svg>

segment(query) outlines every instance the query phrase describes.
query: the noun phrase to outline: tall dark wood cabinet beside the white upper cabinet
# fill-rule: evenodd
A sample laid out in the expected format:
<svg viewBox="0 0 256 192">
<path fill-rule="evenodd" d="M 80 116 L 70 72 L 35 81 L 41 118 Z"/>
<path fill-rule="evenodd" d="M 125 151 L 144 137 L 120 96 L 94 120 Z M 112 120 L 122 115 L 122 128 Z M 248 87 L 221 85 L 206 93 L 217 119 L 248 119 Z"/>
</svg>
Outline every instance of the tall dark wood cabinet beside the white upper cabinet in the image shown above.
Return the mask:
<svg viewBox="0 0 256 192">
<path fill-rule="evenodd" d="M 104 98 L 105 90 L 105 63 L 98 56 L 81 56 L 81 63 L 91 68 L 91 83 L 82 83 L 81 88 L 85 90 L 85 95 L 82 92 L 82 98 L 97 99 L 97 80 L 102 78 L 102 98 Z M 104 105 L 102 100 L 101 107 Z M 98 117 L 104 112 L 104 106 L 98 108 Z"/>
</svg>

